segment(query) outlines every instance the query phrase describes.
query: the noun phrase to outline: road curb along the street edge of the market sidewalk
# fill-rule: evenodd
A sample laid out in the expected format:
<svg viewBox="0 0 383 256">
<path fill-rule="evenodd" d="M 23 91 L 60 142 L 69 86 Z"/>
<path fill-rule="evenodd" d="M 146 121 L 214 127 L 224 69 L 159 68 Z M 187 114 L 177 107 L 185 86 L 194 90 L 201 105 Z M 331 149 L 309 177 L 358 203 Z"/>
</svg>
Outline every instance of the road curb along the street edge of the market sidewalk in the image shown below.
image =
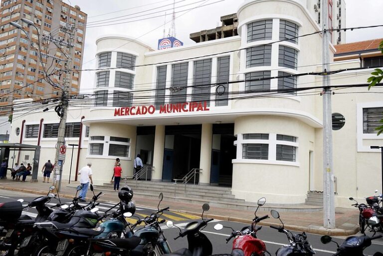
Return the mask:
<svg viewBox="0 0 383 256">
<path fill-rule="evenodd" d="M 45 191 L 35 191 L 35 190 L 30 190 L 30 189 L 20 189 L 20 188 L 12 188 L 12 187 L 7 187 L 7 186 L 0 186 L 0 189 L 4 190 L 10 190 L 10 191 L 18 191 L 18 192 L 24 192 L 24 193 L 33 193 L 37 195 L 46 195 L 47 192 Z M 74 195 L 67 195 L 67 194 L 59 194 L 60 198 L 67 198 L 67 199 L 73 199 Z M 87 198 L 90 199 L 90 198 Z M 107 200 L 99 200 L 100 202 L 110 202 Z M 142 205 L 142 207 L 149 207 L 153 208 L 153 206 L 146 206 Z M 191 212 L 191 211 L 185 211 L 185 210 L 172 210 L 174 212 L 180 212 L 180 213 L 185 213 L 185 214 L 191 214 L 195 216 L 200 216 L 201 213 L 196 213 L 196 212 Z M 204 214 L 204 217 L 207 218 L 213 218 L 216 220 L 222 220 L 222 221 L 230 221 L 230 222 L 239 222 L 239 223 L 244 223 L 244 224 L 251 224 L 251 220 L 248 219 L 241 219 L 241 218 L 236 218 L 236 217 L 230 217 L 230 216 L 222 216 L 222 215 L 214 215 L 214 214 Z M 270 226 L 270 225 L 276 225 L 276 223 L 272 222 L 260 222 L 259 225 L 261 226 Z M 285 225 L 285 228 L 288 230 L 292 231 L 298 231 L 298 232 L 307 232 L 307 233 L 312 233 L 312 234 L 317 234 L 317 235 L 327 235 L 327 236 L 351 236 L 355 235 L 359 232 L 359 226 L 355 225 L 354 228 L 349 229 L 349 230 L 342 230 L 342 229 L 334 229 L 334 230 L 329 230 L 325 229 L 323 227 L 313 227 L 309 225 L 308 227 L 302 227 L 302 226 L 296 226 L 296 225 Z"/>
</svg>

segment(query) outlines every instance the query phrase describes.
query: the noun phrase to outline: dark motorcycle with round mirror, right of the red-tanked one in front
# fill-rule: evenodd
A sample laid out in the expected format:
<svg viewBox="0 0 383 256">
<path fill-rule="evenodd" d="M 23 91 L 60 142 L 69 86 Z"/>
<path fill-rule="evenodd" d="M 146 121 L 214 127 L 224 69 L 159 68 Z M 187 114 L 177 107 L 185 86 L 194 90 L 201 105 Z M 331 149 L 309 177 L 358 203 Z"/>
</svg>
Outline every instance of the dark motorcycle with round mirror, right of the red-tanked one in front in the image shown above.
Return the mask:
<svg viewBox="0 0 383 256">
<path fill-rule="evenodd" d="M 290 231 L 285 230 L 285 225 L 280 219 L 279 213 L 275 210 L 271 210 L 271 216 L 278 219 L 282 223 L 282 227 L 271 225 L 270 228 L 276 229 L 280 233 L 284 233 L 290 243 L 290 245 L 279 248 L 275 253 L 276 256 L 313 256 L 315 254 L 314 249 L 307 240 L 305 232 L 302 234 L 293 234 Z"/>
</svg>

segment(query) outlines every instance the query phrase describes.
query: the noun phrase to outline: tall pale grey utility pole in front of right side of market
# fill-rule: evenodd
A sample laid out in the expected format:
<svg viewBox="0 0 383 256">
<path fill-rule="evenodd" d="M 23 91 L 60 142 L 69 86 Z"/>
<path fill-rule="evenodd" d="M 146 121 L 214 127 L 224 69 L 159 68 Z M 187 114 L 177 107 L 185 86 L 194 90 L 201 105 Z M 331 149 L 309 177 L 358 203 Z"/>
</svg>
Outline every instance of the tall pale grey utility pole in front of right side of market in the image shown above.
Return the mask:
<svg viewBox="0 0 383 256">
<path fill-rule="evenodd" d="M 323 70 L 330 71 L 329 0 L 322 0 Z M 323 227 L 335 229 L 335 196 L 333 170 L 333 131 L 330 76 L 323 76 Z"/>
</svg>

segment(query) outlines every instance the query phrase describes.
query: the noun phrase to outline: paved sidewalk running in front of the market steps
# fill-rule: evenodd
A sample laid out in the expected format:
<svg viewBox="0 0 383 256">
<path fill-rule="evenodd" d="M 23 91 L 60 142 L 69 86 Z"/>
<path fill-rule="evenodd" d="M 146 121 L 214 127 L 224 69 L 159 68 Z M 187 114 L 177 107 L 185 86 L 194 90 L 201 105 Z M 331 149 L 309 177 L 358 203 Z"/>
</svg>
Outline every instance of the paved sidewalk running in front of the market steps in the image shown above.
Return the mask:
<svg viewBox="0 0 383 256">
<path fill-rule="evenodd" d="M 29 180 L 29 179 L 27 179 Z M 79 182 L 71 181 L 70 187 L 68 180 L 63 180 L 61 184 L 61 191 L 59 193 L 61 198 L 73 198 L 76 194 L 73 186 L 79 185 Z M 51 184 L 42 183 L 41 181 L 36 183 L 26 182 L 15 182 L 11 179 L 0 180 L 0 189 L 19 191 L 24 193 L 31 193 L 37 195 L 46 195 Z M 133 188 L 134 191 L 134 188 Z M 99 191 L 97 191 L 98 193 Z M 96 193 L 96 190 L 95 190 Z M 87 196 L 91 197 L 92 193 L 89 190 Z M 133 197 L 137 206 L 157 208 L 158 200 L 146 199 L 143 197 Z M 107 202 L 118 202 L 117 192 L 107 192 L 100 201 Z M 266 201 L 267 205 L 267 201 Z M 265 206 L 266 206 L 265 205 Z M 170 207 L 172 211 L 179 211 L 182 213 L 188 213 L 200 216 L 202 213 L 201 205 L 181 203 L 174 201 L 163 201 L 162 207 Z M 273 219 L 269 212 L 261 211 L 262 207 L 258 211 L 258 216 L 268 214 L 270 219 L 262 221 L 260 224 L 269 226 L 272 224 L 280 224 L 279 220 Z M 280 213 L 281 219 L 285 224 L 285 228 L 292 231 L 308 232 L 318 235 L 329 235 L 329 236 L 350 236 L 354 235 L 359 231 L 358 220 L 359 212 L 356 209 L 348 208 L 336 208 L 335 209 L 335 223 L 336 229 L 327 230 L 322 227 L 323 225 L 323 211 L 314 213 L 302 213 L 302 212 L 283 212 Z M 251 223 L 254 218 L 254 212 L 238 210 L 238 209 L 227 209 L 210 207 L 210 210 L 204 214 L 204 217 L 214 218 L 217 220 L 226 220 L 240 223 Z"/>
</svg>

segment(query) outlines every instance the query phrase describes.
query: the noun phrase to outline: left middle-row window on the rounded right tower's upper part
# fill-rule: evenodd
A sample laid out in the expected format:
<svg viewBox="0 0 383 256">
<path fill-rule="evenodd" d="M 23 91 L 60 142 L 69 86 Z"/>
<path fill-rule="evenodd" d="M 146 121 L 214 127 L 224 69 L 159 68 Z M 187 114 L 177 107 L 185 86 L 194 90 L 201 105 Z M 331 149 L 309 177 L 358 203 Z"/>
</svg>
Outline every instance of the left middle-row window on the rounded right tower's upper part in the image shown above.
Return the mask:
<svg viewBox="0 0 383 256">
<path fill-rule="evenodd" d="M 259 45 L 246 49 L 246 67 L 270 65 L 271 45 Z"/>
</svg>

